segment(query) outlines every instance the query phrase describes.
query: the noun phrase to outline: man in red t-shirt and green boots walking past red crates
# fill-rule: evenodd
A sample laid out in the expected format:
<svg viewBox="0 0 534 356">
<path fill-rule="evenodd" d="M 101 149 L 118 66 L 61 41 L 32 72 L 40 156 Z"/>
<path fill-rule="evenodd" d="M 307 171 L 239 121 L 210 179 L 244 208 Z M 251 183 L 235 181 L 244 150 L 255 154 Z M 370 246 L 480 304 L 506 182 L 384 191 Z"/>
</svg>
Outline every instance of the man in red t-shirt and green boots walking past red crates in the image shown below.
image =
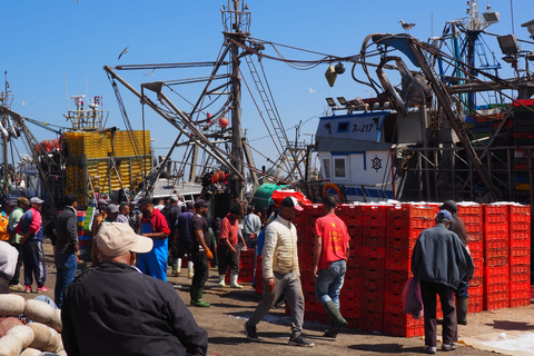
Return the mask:
<svg viewBox="0 0 534 356">
<path fill-rule="evenodd" d="M 339 291 L 347 271 L 348 241 L 347 227 L 336 216 L 336 197 L 324 199 L 325 216 L 315 222 L 314 268 L 315 295 L 328 314 L 330 325 L 325 336 L 336 337 L 347 322 L 339 313 Z"/>
</svg>

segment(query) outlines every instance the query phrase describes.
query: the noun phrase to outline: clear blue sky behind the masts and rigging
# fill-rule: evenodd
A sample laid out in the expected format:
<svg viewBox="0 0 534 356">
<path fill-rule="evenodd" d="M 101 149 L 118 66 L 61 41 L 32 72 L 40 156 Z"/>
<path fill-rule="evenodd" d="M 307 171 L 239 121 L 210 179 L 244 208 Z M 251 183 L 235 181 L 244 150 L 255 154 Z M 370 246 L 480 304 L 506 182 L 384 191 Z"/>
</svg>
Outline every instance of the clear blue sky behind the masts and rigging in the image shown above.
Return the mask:
<svg viewBox="0 0 534 356">
<path fill-rule="evenodd" d="M 426 41 L 438 36 L 445 21 L 465 17 L 466 1 L 319 1 L 319 0 L 249 0 L 251 34 L 255 38 L 308 49 L 337 57 L 359 52 L 364 38 L 374 32 L 403 32 L 398 21 L 415 22 L 411 34 Z M 14 95 L 12 109 L 22 116 L 68 126 L 66 78 L 69 96 L 102 96 L 103 109 L 109 110 L 108 126 L 125 128 L 111 85 L 102 70 L 105 65 L 139 65 L 212 61 L 222 44 L 221 12 L 226 0 L 3 0 L 0 2 L 2 40 L 0 42 L 0 70 L 8 71 L 10 88 Z M 479 2 L 484 12 L 487 1 Z M 511 1 L 493 0 L 494 11 L 501 13 L 501 22 L 488 30 L 501 34 L 511 33 Z M 514 31 L 527 38 L 521 23 L 534 17 L 532 0 L 514 0 Z M 496 40 L 490 46 L 498 51 Z M 120 61 L 118 55 L 129 47 Z M 290 59 L 317 59 L 281 49 Z M 295 70 L 288 66 L 264 61 L 276 106 L 287 135 L 295 138 L 291 129 L 299 122 L 301 134 L 315 132 L 318 117 L 326 110 L 325 97 L 368 97 L 365 87 L 356 83 L 349 75 L 337 78 L 330 88 L 324 77 L 327 65 L 312 70 Z M 506 67 L 506 63 L 503 63 Z M 136 89 L 145 81 L 189 78 L 195 75 L 186 69 L 119 72 Z M 207 73 L 207 72 L 206 72 Z M 206 75 L 205 73 L 205 75 Z M 150 79 L 148 79 L 150 78 Z M 249 77 L 248 85 L 254 87 Z M 3 77 L 2 77 L 3 90 Z M 310 92 L 313 88 L 316 92 Z M 181 90 L 181 88 L 180 88 Z M 198 88 L 182 89 L 190 100 L 198 97 Z M 125 88 L 121 95 L 135 129 L 141 128 L 141 106 Z M 27 103 L 22 105 L 22 101 Z M 88 100 L 87 100 L 88 101 Z M 86 101 L 86 102 L 87 102 Z M 244 93 L 243 127 L 253 146 L 264 154 L 255 154 L 257 166 L 265 165 L 265 156 L 276 159 L 273 144 L 254 109 L 249 96 Z M 70 100 L 70 108 L 73 103 Z M 180 107 L 187 111 L 189 107 Z M 157 155 L 165 155 L 178 131 L 162 118 L 146 110 L 147 127 L 155 139 Z M 53 134 L 33 127 L 38 139 L 49 139 Z M 310 137 L 304 136 L 309 142 Z M 18 144 L 23 150 L 22 145 Z"/>
</svg>

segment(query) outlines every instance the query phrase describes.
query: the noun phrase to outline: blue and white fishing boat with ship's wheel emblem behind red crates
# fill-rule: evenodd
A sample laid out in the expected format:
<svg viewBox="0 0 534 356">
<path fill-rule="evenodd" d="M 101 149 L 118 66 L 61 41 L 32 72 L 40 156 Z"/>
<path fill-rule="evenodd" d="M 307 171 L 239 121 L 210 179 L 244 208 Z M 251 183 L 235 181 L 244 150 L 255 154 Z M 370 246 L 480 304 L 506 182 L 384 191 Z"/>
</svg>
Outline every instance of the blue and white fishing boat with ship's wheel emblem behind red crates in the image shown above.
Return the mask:
<svg viewBox="0 0 534 356">
<path fill-rule="evenodd" d="M 477 1 L 467 13 L 427 42 L 407 33 L 365 39 L 353 65 L 365 78 L 355 79 L 376 97 L 327 98 L 332 111 L 319 120 L 315 148 L 324 194 L 359 201 L 532 204 L 534 57 L 518 43 L 534 43 L 495 36 L 503 60 L 516 69 L 516 77 L 501 78 L 502 66 L 486 56 L 483 39 L 498 13 L 488 7 L 479 14 Z"/>
</svg>

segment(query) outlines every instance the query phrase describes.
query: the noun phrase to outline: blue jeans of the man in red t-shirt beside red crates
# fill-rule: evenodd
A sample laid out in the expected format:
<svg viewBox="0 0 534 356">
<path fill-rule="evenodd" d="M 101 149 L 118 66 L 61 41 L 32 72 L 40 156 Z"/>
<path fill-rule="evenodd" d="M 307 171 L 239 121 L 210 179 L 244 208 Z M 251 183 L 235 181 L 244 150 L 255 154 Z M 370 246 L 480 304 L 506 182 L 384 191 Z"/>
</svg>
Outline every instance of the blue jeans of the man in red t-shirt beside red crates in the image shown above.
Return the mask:
<svg viewBox="0 0 534 356">
<path fill-rule="evenodd" d="M 345 259 L 333 261 L 328 268 L 317 271 L 315 296 L 320 304 L 332 300 L 339 309 L 339 291 L 342 290 L 346 273 L 347 263 Z"/>
</svg>

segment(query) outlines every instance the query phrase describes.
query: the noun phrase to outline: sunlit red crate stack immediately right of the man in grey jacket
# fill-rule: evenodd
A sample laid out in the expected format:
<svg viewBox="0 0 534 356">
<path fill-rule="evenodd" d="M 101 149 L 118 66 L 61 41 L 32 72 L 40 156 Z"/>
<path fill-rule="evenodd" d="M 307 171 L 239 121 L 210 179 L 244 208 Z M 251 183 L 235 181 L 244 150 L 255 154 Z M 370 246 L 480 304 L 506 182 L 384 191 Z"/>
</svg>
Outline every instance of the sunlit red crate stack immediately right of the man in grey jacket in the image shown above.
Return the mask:
<svg viewBox="0 0 534 356">
<path fill-rule="evenodd" d="M 479 313 L 484 306 L 484 210 L 478 204 L 458 204 L 458 216 L 464 221 L 467 230 L 467 247 L 475 265 L 473 279 L 469 280 L 468 313 Z"/>
</svg>

